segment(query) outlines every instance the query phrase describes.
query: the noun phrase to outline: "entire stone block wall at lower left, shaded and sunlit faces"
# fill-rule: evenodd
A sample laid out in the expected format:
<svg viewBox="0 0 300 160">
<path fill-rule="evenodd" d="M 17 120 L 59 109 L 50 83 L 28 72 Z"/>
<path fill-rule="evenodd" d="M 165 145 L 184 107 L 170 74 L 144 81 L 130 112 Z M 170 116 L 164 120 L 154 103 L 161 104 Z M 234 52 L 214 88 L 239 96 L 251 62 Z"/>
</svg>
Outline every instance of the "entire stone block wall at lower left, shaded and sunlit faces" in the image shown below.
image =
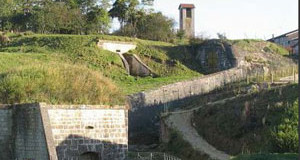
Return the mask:
<svg viewBox="0 0 300 160">
<path fill-rule="evenodd" d="M 0 105 L 1 160 L 122 160 L 128 107 Z"/>
</svg>

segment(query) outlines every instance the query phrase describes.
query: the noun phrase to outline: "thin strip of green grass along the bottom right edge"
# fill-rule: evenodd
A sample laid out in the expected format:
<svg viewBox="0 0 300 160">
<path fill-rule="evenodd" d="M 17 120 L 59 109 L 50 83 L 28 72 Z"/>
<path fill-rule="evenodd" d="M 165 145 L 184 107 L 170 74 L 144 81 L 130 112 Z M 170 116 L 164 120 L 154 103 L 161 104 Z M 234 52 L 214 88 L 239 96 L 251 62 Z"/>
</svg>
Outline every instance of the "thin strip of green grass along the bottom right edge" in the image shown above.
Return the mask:
<svg viewBox="0 0 300 160">
<path fill-rule="evenodd" d="M 269 154 L 251 154 L 232 157 L 231 160 L 297 160 L 298 154 L 295 153 L 269 153 Z"/>
</svg>

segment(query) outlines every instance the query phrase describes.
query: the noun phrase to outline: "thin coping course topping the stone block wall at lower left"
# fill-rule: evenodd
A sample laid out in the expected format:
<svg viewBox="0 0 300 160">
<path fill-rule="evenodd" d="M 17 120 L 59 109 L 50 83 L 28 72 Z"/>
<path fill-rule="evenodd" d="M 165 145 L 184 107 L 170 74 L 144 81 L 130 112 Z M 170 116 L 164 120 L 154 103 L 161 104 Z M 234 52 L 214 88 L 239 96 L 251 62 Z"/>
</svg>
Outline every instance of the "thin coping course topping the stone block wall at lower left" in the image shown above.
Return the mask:
<svg viewBox="0 0 300 160">
<path fill-rule="evenodd" d="M 109 105 L 51 105 L 46 103 L 24 103 L 24 104 L 0 104 L 0 109 L 12 109 L 14 107 L 41 107 L 47 109 L 110 109 L 110 110 L 128 110 L 129 106 L 109 106 Z"/>
</svg>

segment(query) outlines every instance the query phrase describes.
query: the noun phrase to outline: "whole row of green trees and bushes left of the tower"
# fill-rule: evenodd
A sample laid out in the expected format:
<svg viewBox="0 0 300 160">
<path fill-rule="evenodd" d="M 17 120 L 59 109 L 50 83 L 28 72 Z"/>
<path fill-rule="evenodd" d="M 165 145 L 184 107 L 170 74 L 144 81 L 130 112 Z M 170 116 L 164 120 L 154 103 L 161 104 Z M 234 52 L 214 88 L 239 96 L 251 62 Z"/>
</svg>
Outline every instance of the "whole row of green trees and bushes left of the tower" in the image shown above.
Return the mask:
<svg viewBox="0 0 300 160">
<path fill-rule="evenodd" d="M 117 18 L 120 29 L 115 34 L 170 41 L 175 35 L 174 22 L 145 7 L 153 1 L 0 0 L 0 28 L 14 32 L 107 34 L 112 18 Z"/>
</svg>

